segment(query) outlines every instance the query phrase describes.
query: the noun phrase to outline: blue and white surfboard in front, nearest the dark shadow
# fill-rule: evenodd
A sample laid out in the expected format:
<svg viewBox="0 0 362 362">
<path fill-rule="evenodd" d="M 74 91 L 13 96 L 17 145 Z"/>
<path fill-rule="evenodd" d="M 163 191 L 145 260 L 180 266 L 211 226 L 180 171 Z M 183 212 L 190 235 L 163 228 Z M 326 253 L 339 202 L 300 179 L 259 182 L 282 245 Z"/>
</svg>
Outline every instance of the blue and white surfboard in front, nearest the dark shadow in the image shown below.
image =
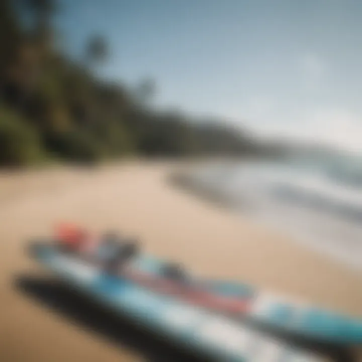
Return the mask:
<svg viewBox="0 0 362 362">
<path fill-rule="evenodd" d="M 321 362 L 320 356 L 297 350 L 209 310 L 154 293 L 129 279 L 114 277 L 95 265 L 56 249 L 33 246 L 32 257 L 65 283 L 145 328 L 215 361 Z"/>
</svg>

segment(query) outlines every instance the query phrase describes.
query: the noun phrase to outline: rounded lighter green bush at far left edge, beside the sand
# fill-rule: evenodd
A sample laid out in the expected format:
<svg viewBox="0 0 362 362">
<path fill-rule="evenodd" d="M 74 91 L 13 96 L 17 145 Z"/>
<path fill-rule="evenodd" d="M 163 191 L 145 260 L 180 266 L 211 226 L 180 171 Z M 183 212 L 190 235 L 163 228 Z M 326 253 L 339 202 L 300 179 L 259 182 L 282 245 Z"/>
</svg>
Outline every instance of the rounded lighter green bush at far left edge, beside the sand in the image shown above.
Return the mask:
<svg viewBox="0 0 362 362">
<path fill-rule="evenodd" d="M 42 156 L 35 130 L 19 115 L 0 106 L 0 165 L 29 165 Z"/>
</svg>

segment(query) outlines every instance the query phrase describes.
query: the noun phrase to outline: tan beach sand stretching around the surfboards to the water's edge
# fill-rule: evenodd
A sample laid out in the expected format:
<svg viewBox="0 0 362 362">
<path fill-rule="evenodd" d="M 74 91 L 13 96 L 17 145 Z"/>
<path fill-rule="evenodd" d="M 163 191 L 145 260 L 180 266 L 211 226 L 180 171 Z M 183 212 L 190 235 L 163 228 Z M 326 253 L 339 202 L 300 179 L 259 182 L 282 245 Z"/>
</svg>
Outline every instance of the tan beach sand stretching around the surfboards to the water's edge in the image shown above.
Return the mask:
<svg viewBox="0 0 362 362">
<path fill-rule="evenodd" d="M 111 343 L 104 333 L 84 330 L 19 287 L 41 274 L 24 252 L 26 242 L 46 236 L 62 220 L 137 236 L 147 251 L 183 261 L 200 274 L 249 281 L 362 315 L 360 275 L 172 187 L 165 176 L 173 166 L 128 162 L 0 175 L 2 362 L 152 360 L 147 353 L 153 350 L 122 343 L 121 337 L 121 343 Z"/>
</svg>

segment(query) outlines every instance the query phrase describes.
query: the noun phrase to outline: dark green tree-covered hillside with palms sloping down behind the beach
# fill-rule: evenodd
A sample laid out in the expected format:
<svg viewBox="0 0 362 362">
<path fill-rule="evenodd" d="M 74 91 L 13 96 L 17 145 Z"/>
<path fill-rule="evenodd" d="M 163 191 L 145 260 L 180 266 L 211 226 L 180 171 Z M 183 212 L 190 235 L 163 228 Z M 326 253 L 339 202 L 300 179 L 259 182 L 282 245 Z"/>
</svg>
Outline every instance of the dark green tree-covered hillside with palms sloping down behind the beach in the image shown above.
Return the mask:
<svg viewBox="0 0 362 362">
<path fill-rule="evenodd" d="M 97 162 L 129 154 L 185 157 L 257 152 L 222 120 L 198 122 L 149 106 L 145 80 L 132 92 L 96 76 L 108 57 L 90 36 L 82 61 L 57 47 L 54 0 L 0 1 L 0 165 Z"/>
</svg>

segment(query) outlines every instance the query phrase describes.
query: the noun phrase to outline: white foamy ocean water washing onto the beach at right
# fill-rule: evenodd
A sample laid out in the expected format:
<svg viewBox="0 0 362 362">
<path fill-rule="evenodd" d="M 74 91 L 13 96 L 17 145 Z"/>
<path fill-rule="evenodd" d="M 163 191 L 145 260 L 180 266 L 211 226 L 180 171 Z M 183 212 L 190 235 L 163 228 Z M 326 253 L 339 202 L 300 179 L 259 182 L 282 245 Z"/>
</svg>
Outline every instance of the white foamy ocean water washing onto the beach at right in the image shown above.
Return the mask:
<svg viewBox="0 0 362 362">
<path fill-rule="evenodd" d="M 362 162 L 326 160 L 212 164 L 190 175 L 243 218 L 267 225 L 348 267 L 362 269 Z"/>
</svg>

